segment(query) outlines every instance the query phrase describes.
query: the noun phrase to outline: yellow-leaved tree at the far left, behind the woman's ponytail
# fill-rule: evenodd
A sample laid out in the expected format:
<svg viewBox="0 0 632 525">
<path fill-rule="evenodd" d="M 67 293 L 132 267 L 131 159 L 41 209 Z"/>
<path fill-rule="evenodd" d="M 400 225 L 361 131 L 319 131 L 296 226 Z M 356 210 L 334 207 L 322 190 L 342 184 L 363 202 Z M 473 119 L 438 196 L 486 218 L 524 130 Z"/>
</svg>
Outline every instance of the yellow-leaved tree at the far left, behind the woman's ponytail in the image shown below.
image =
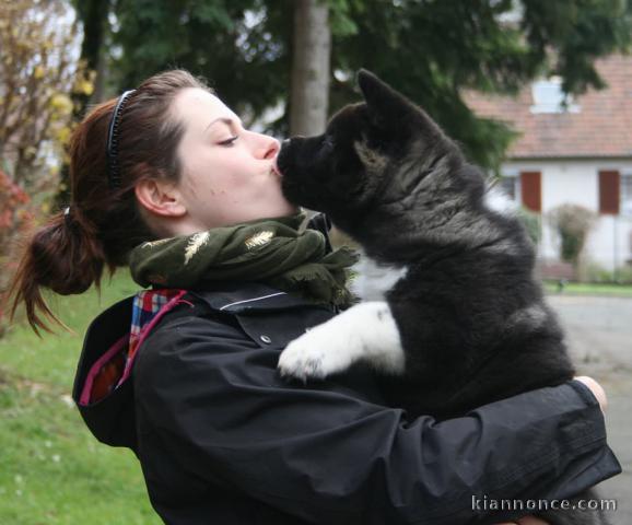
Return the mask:
<svg viewBox="0 0 632 525">
<path fill-rule="evenodd" d="M 27 192 L 50 175 L 45 163 L 68 137 L 78 71 L 68 16 L 56 0 L 0 3 L 0 162 Z"/>
</svg>

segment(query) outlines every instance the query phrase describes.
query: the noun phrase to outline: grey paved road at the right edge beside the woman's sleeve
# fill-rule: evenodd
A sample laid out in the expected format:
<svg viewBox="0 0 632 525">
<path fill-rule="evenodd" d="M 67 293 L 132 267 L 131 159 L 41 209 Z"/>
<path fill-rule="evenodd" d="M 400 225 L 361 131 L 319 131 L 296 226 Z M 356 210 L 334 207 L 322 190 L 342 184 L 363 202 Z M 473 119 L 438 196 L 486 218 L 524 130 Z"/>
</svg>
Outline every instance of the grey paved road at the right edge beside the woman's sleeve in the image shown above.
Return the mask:
<svg viewBox="0 0 632 525">
<path fill-rule="evenodd" d="M 616 499 L 612 525 L 632 524 L 632 299 L 551 295 L 549 304 L 566 329 L 569 347 L 582 374 L 606 388 L 608 442 L 623 472 L 599 486 Z"/>
</svg>

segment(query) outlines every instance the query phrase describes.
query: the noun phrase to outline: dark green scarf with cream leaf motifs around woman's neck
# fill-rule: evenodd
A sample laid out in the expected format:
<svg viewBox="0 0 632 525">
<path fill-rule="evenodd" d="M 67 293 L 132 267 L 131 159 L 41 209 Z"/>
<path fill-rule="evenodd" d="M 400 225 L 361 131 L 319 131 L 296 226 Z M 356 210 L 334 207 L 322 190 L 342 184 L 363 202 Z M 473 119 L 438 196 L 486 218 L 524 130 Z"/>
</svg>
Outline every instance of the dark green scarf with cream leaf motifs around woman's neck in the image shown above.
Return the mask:
<svg viewBox="0 0 632 525">
<path fill-rule="evenodd" d="M 343 246 L 326 254 L 325 235 L 301 229 L 305 213 L 253 220 L 134 247 L 129 267 L 141 287 L 189 289 L 198 281 L 247 280 L 314 303 L 348 307 L 348 268 L 358 254 Z"/>
</svg>

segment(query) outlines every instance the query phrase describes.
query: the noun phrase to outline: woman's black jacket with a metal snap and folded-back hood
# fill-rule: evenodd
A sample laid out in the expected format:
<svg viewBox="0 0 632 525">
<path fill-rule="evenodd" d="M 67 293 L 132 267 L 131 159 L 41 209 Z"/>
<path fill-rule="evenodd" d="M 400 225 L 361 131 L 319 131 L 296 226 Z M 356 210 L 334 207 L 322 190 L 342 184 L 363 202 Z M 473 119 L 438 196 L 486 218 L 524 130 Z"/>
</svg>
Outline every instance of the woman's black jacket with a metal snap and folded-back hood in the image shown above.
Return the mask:
<svg viewBox="0 0 632 525">
<path fill-rule="evenodd" d="M 473 495 L 566 498 L 620 471 L 577 382 L 408 421 L 367 371 L 279 377 L 280 351 L 331 310 L 254 282 L 185 298 L 142 345 L 131 381 L 80 407 L 98 440 L 134 450 L 165 523 L 494 523 Z M 75 399 L 130 308 L 117 303 L 90 326 Z"/>
</svg>

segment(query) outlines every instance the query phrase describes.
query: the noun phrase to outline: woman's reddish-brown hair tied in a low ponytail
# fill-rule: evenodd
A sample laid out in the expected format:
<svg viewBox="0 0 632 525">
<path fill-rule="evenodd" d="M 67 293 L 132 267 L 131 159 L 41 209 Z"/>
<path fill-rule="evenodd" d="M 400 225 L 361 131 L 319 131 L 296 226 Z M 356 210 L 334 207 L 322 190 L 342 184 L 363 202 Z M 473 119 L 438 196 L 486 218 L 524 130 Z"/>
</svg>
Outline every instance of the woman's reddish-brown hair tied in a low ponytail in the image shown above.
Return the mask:
<svg viewBox="0 0 632 525">
<path fill-rule="evenodd" d="M 121 184 L 108 185 L 108 127 L 118 98 L 97 105 L 74 129 L 70 140 L 71 202 L 50 217 L 24 246 L 8 298 L 13 296 L 11 318 L 21 302 L 32 328 L 50 331 L 44 317 L 63 326 L 48 308 L 42 288 L 68 295 L 101 287 L 105 267 L 109 275 L 127 265 L 130 250 L 156 236 L 142 219 L 134 194 L 141 179 L 177 183 L 180 164 L 177 147 L 183 125 L 171 110 L 176 94 L 186 88 L 211 92 L 203 81 L 183 70 L 166 71 L 145 80 L 118 113 L 118 168 Z"/>
</svg>

